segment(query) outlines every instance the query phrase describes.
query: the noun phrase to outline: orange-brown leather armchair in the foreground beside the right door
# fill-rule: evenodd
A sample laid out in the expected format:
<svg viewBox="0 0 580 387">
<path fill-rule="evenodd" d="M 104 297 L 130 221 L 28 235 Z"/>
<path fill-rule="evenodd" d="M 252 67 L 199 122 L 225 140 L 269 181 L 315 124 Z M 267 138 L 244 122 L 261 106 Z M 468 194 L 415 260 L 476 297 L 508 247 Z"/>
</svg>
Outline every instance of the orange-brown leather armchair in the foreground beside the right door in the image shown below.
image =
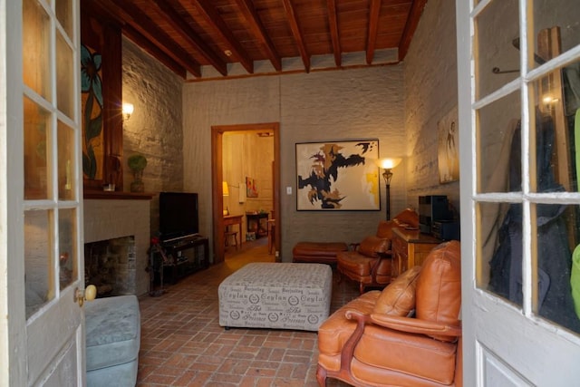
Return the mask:
<svg viewBox="0 0 580 387">
<path fill-rule="evenodd" d="M 461 386 L 460 305 L 460 247 L 450 241 L 431 250 L 422 266 L 359 296 L 320 326 L 318 383 Z"/>
</svg>

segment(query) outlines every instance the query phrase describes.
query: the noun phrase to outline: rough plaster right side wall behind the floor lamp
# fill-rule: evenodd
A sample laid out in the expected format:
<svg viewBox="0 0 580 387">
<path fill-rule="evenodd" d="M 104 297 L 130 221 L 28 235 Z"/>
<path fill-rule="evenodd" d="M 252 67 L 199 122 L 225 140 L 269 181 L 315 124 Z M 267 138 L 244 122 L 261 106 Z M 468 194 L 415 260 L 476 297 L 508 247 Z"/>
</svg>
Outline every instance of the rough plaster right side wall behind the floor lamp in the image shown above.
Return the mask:
<svg viewBox="0 0 580 387">
<path fill-rule="evenodd" d="M 459 182 L 440 184 L 437 162 L 437 122 L 458 103 L 456 51 L 455 2 L 430 0 L 404 61 L 404 168 L 415 208 L 421 195 L 447 195 L 459 211 Z"/>
</svg>

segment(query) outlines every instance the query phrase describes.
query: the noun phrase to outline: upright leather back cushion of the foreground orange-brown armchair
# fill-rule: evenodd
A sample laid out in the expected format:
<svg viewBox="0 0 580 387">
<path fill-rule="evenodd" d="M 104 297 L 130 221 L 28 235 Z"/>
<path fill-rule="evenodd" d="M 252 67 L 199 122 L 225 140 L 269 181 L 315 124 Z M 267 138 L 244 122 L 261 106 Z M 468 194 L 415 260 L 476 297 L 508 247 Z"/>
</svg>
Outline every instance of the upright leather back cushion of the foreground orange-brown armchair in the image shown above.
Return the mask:
<svg viewBox="0 0 580 387">
<path fill-rule="evenodd" d="M 461 307 L 461 247 L 457 240 L 432 249 L 417 279 L 417 318 L 440 324 L 459 324 Z M 439 340 L 454 340 L 433 336 Z"/>
</svg>

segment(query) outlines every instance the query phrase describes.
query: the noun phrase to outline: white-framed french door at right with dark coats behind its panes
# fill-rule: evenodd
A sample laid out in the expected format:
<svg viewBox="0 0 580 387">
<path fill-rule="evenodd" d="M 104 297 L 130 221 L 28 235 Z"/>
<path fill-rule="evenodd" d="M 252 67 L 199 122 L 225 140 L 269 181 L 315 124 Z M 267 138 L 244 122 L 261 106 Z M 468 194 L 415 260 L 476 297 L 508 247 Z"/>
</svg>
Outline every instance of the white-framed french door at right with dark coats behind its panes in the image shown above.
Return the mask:
<svg viewBox="0 0 580 387">
<path fill-rule="evenodd" d="M 464 385 L 578 385 L 580 6 L 456 7 Z"/>
</svg>

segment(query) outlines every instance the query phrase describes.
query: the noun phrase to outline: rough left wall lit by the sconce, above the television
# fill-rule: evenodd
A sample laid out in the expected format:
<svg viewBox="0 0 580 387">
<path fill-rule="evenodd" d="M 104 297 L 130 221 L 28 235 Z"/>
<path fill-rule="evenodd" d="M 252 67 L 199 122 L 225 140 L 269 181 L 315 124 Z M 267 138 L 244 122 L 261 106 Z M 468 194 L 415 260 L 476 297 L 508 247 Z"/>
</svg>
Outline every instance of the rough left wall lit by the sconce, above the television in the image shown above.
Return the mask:
<svg viewBox="0 0 580 387">
<path fill-rule="evenodd" d="M 183 190 L 183 131 L 181 96 L 183 81 L 148 53 L 123 38 L 123 102 L 135 111 L 123 122 L 123 190 L 129 191 L 134 153 L 147 158 L 143 171 L 145 191 Z M 159 231 L 159 197 L 151 200 L 151 235 Z"/>
</svg>

